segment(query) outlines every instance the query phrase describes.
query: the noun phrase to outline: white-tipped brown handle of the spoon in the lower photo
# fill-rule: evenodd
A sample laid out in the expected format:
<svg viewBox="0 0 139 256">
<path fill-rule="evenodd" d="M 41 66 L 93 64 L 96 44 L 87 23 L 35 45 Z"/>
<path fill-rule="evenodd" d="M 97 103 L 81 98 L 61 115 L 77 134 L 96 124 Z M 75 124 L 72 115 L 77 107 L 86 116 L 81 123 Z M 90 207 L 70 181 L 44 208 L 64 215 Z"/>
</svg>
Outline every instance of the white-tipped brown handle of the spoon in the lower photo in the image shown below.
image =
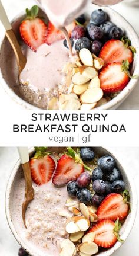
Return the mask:
<svg viewBox="0 0 139 256">
<path fill-rule="evenodd" d="M 29 166 L 29 154 L 28 148 L 18 147 L 19 156 L 21 159 L 22 168 L 24 171 L 25 177 L 25 194 L 32 193 L 32 178 L 31 178 L 31 169 Z"/>
</svg>

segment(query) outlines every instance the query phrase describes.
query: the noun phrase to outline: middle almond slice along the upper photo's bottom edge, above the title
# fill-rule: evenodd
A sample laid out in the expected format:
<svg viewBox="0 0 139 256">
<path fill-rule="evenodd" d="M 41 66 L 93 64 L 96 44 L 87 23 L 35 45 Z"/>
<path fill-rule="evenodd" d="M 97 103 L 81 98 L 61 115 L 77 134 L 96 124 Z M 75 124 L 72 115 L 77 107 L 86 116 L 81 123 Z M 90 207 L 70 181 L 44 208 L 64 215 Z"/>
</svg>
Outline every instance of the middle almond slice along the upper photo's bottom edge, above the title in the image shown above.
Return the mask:
<svg viewBox="0 0 139 256">
<path fill-rule="evenodd" d="M 61 106 L 60 110 L 79 110 L 81 107 L 81 103 L 79 100 L 67 100 Z"/>
</svg>

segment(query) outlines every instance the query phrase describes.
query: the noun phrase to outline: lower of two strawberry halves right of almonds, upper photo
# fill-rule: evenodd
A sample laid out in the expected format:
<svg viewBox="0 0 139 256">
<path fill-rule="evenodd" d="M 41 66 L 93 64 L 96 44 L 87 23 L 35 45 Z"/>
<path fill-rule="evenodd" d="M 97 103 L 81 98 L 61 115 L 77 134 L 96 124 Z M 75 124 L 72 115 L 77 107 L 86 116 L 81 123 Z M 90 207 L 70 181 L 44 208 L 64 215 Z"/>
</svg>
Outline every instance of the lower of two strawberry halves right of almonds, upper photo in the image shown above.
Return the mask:
<svg viewBox="0 0 139 256">
<path fill-rule="evenodd" d="M 122 70 L 121 63 L 109 63 L 99 73 L 100 87 L 104 92 L 118 92 L 130 81 Z"/>
</svg>

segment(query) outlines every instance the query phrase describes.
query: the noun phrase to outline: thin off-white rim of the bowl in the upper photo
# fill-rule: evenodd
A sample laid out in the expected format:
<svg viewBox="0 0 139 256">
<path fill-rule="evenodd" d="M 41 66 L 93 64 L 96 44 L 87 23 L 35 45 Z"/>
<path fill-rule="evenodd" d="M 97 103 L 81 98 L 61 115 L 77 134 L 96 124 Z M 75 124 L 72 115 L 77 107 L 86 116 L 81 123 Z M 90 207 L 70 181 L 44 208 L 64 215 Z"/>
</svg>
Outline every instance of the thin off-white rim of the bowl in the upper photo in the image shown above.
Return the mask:
<svg viewBox="0 0 139 256">
<path fill-rule="evenodd" d="M 93 5 L 93 4 L 92 4 Z M 98 6 L 95 5 L 95 8 L 97 8 Z M 139 45 L 139 37 L 136 33 L 136 31 L 134 30 L 134 28 L 132 27 L 132 25 L 130 23 L 128 23 L 128 21 L 121 15 L 119 14 L 117 11 L 115 11 L 114 9 L 110 8 L 110 7 L 102 7 L 102 9 L 105 9 L 107 11 L 107 9 L 111 10 L 111 14 L 116 14 L 121 21 L 123 21 L 124 23 L 127 23 L 128 28 L 130 28 L 130 31 L 132 34 L 134 34 L 134 38 L 135 40 L 137 40 L 138 45 Z M 14 22 L 16 19 L 20 18 L 22 15 L 25 14 L 25 11 L 20 12 L 18 15 L 16 15 L 14 18 L 12 18 L 11 23 Z M 0 49 L 2 46 L 2 42 L 5 38 L 5 33 L 3 34 L 3 36 L 0 36 Z M 136 49 L 137 53 L 136 56 L 139 56 L 139 47 L 137 47 Z M 135 62 L 135 66 L 134 66 L 134 74 L 137 74 L 139 70 L 139 61 L 137 61 L 136 58 L 136 62 Z M 28 103 L 27 101 L 23 100 L 21 97 L 19 97 L 13 90 L 12 88 L 9 87 L 9 85 L 6 83 L 5 79 L 2 76 L 2 72 L 1 72 L 1 68 L 0 68 L 0 80 L 1 80 L 1 84 L 2 87 L 4 88 L 5 92 L 19 105 L 22 105 L 22 107 L 27 108 L 29 110 L 40 110 L 42 108 L 39 107 L 35 107 L 34 105 Z M 138 79 L 130 79 L 130 81 L 128 82 L 127 86 L 112 100 L 108 101 L 108 103 L 105 103 L 104 105 L 101 105 L 100 107 L 94 108 L 95 110 L 100 109 L 100 110 L 108 110 L 108 109 L 112 109 L 114 107 L 118 107 L 118 105 L 120 105 L 125 98 L 128 97 L 128 95 L 130 94 L 130 92 L 134 89 L 135 85 L 137 85 Z"/>
</svg>

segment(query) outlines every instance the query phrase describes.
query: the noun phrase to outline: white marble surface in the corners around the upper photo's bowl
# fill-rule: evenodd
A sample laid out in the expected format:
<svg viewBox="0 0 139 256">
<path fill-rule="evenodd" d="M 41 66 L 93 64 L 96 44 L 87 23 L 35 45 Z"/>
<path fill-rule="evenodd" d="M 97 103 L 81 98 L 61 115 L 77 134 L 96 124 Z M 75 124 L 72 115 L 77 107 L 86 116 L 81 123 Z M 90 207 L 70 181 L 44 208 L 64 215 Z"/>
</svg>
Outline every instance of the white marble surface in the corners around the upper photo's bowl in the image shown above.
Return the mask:
<svg viewBox="0 0 139 256">
<path fill-rule="evenodd" d="M 2 3 L 4 4 L 4 7 L 6 9 L 6 12 L 8 14 L 9 19 L 15 17 L 19 12 L 23 11 L 26 7 L 31 7 L 32 4 L 35 3 L 34 0 L 2 0 Z M 137 7 L 131 7 L 131 5 L 128 5 L 126 1 L 115 5 L 112 7 L 115 9 L 115 11 L 118 11 L 123 17 L 125 17 L 131 25 L 135 28 L 137 33 L 139 34 L 139 19 L 137 18 L 139 15 L 139 8 Z M 2 29 L 2 26 L 0 24 L 0 30 Z M 0 101 L 0 108 L 7 107 L 10 105 L 11 111 L 16 110 L 17 103 L 15 103 L 9 96 L 6 94 L 4 89 L 0 86 L 0 95 L 1 95 L 1 101 Z M 123 104 L 120 105 L 119 109 L 139 109 L 139 101 L 138 101 L 138 95 L 139 95 L 139 87 L 135 87 L 134 91 L 131 92 L 129 97 L 124 101 Z M 8 104 L 7 104 L 8 103 Z M 22 108 L 21 105 L 18 105 L 19 108 Z"/>
</svg>

